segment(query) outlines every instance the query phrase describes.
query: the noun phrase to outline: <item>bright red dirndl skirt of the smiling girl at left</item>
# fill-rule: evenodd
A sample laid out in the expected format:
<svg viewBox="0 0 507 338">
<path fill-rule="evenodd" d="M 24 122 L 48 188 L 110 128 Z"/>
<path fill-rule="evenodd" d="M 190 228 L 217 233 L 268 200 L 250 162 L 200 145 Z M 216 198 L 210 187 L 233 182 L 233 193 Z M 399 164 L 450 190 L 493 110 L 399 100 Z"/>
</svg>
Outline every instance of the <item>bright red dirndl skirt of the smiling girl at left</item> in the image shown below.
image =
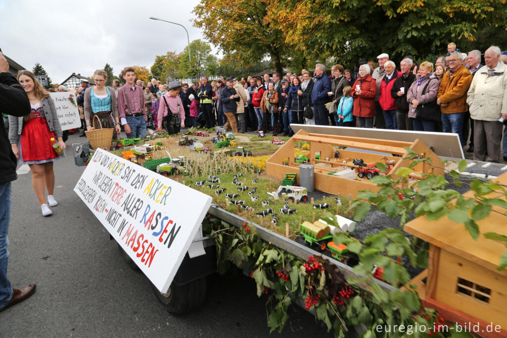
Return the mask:
<svg viewBox="0 0 507 338">
<path fill-rule="evenodd" d="M 53 150 L 51 138 L 55 138 L 55 134 L 49 130 L 45 118 L 29 119 L 21 132 L 23 161 L 41 161 L 58 157 Z"/>
</svg>

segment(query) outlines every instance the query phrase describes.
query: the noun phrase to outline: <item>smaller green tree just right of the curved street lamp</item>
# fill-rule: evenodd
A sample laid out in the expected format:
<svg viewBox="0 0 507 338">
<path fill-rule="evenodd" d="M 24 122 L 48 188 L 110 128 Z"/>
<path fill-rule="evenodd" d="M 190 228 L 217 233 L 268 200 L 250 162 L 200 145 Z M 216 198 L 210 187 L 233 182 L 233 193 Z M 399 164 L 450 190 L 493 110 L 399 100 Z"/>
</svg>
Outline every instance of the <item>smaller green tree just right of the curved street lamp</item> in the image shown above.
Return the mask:
<svg viewBox="0 0 507 338">
<path fill-rule="evenodd" d="M 192 41 L 190 43 L 192 64 L 189 64 L 189 49 L 187 46 L 183 52 L 179 54 L 178 77 L 196 78 L 202 73 L 207 76 L 215 75 L 213 73 L 215 73 L 218 68 L 218 59 L 210 53 L 211 47 L 208 43 L 200 39 Z"/>
</svg>

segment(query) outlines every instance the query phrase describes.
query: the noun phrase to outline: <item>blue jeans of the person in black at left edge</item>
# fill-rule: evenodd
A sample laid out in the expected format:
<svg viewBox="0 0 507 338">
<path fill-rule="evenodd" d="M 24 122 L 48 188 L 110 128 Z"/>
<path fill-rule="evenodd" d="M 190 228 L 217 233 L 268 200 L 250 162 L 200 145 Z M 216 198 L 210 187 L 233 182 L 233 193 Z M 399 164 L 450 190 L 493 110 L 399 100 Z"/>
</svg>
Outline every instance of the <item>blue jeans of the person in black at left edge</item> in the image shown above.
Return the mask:
<svg viewBox="0 0 507 338">
<path fill-rule="evenodd" d="M 12 298 L 11 282 L 7 279 L 7 261 L 9 260 L 9 218 L 11 215 L 11 182 L 0 183 L 0 309 Z"/>
</svg>

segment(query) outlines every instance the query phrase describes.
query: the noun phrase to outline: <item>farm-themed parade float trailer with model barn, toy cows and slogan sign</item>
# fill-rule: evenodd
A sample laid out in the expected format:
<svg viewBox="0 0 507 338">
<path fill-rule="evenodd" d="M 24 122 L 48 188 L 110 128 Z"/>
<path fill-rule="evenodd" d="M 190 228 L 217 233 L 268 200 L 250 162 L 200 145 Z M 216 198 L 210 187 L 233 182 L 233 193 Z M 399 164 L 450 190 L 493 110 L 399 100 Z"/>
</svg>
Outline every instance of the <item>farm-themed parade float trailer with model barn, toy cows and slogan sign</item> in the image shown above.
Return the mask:
<svg viewBox="0 0 507 338">
<path fill-rule="evenodd" d="M 219 128 L 216 134 L 217 143 L 231 142 L 225 130 Z M 488 239 L 481 238 L 485 246 L 494 241 L 503 243 L 491 253 L 488 265 L 484 257 L 481 260 L 461 254 L 466 248 L 470 254 L 479 250 L 469 250 L 483 233 L 476 221 L 490 212 L 503 213 L 497 221 L 507 224 L 503 185 L 463 178 L 459 172 L 466 170 L 464 160 L 459 168 L 457 163 L 443 162 L 417 138 L 379 141 L 299 130 L 291 139 L 279 139 L 284 144 L 236 134 L 234 142 L 242 147 L 242 156 L 235 156 L 236 148 L 227 146 L 215 146 L 204 153 L 196 152 L 190 144 L 181 144 L 187 140 L 212 144 L 203 133 L 195 135 L 195 140 L 193 135 L 191 139 L 180 139 L 183 142 L 177 142 L 178 137 L 120 141 L 124 149 L 90 154 L 90 163 L 96 163 L 98 156 L 107 157 L 99 163 L 104 163 L 111 182 L 117 179 L 120 167 L 120 177 L 136 173 L 130 174 L 132 178 L 127 182 L 148 199 L 144 205 L 142 196 L 137 201 L 131 197 L 124 206 L 120 203 L 123 220 L 117 214 L 110 215 L 111 209 L 106 211 L 100 204 L 98 199 L 107 197 L 85 194 L 81 180 L 76 191 L 117 240 L 126 260 L 150 278 L 157 297 L 172 314 L 183 314 L 202 304 L 207 275 L 224 274 L 237 266 L 255 280 L 257 294 L 267 297 L 272 330 L 283 329 L 293 303 L 314 313 L 319 322 L 334 329 L 336 336 L 407 336 L 407 332 L 390 331 L 387 326 L 392 325 L 424 327 L 418 336 L 452 336 L 460 333 L 455 323 L 466 326 L 465 319 L 503 324 L 491 306 L 499 304 L 504 294 L 498 280 L 505 271 L 495 275 L 493 269 L 507 265 L 507 255 L 502 256 L 505 250 L 499 250 L 507 242 L 507 233 L 493 229 Z M 135 143 L 161 143 L 161 149 L 153 151 L 152 159 L 124 161 L 122 152 L 130 151 Z M 87 146 L 73 145 L 73 149 L 76 163 L 85 162 Z M 95 189 L 103 188 L 102 181 L 89 175 L 91 182 L 96 182 Z M 463 182 L 472 192 L 461 194 L 449 188 L 451 183 Z M 162 200 L 171 189 L 181 191 L 178 196 L 172 195 L 174 203 L 180 206 L 188 201 L 193 212 L 187 207 L 171 209 L 169 202 L 166 208 L 172 218 L 165 217 L 174 221 L 169 226 L 164 221 L 165 210 L 157 211 L 160 215 L 152 213 L 147 204 L 151 206 L 149 199 L 152 204 Z M 490 197 L 490 193 L 496 195 Z M 109 202 L 118 205 L 118 193 L 112 195 Z M 384 218 L 375 219 L 377 224 L 372 228 L 365 217 L 377 217 L 378 212 Z M 179 221 L 175 215 L 179 215 Z M 415 217 L 405 226 L 410 234 L 402 231 Z M 395 222 L 389 223 L 388 219 Z M 112 220 L 123 222 L 123 230 L 112 228 Z M 433 226 L 432 222 L 439 224 L 434 227 L 442 233 L 456 233 L 453 243 L 456 247 L 462 244 L 459 249 L 433 240 L 425 231 L 428 224 Z M 139 224 L 135 236 L 134 228 L 124 234 L 127 223 Z M 176 224 L 182 224 L 181 228 Z M 461 231 L 444 231 L 449 224 Z M 179 232 L 184 228 L 190 229 L 186 236 Z M 416 228 L 419 230 L 412 230 Z M 152 241 L 148 247 L 153 248 L 145 253 L 148 249 L 144 249 L 142 240 L 139 244 L 139 236 L 149 238 L 153 231 L 160 231 L 162 246 Z M 463 242 L 456 244 L 458 239 Z M 176 248 L 171 243 L 181 245 Z M 172 252 L 178 257 L 174 264 L 162 268 L 165 274 L 146 267 L 149 259 L 156 264 L 155 250 L 167 249 L 179 251 L 175 255 Z M 436 257 L 437 251 L 440 254 Z M 451 261 L 448 252 L 461 255 L 462 261 Z M 470 269 L 475 277 L 460 275 L 449 264 L 463 264 L 462 269 Z M 471 273 L 475 267 L 489 269 L 490 273 Z M 439 275 L 444 273 L 447 275 Z M 458 278 L 456 283 L 444 282 L 449 274 Z M 439 288 L 453 294 L 464 290 L 464 296 L 472 298 L 469 301 L 491 299 L 486 305 L 491 312 L 479 308 L 474 312 L 473 303 L 461 307 L 456 299 L 462 295 L 442 297 L 435 291 Z M 449 307 L 466 312 L 468 317 Z"/>
</svg>

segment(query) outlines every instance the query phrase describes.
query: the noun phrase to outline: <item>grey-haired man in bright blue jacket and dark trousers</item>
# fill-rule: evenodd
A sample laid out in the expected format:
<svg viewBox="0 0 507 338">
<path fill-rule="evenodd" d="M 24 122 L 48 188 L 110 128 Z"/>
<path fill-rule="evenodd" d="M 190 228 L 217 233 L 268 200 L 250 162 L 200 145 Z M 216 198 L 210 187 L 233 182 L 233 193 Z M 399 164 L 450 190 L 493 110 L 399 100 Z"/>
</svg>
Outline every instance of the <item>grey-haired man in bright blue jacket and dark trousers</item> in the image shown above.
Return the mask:
<svg viewBox="0 0 507 338">
<path fill-rule="evenodd" d="M 315 82 L 313 84 L 311 99 L 313 110 L 315 112 L 315 124 L 329 125 L 328 109 L 325 104 L 328 103 L 328 92 L 331 91 L 331 81 L 325 74 L 325 65 L 317 63 L 315 65 Z"/>
</svg>

